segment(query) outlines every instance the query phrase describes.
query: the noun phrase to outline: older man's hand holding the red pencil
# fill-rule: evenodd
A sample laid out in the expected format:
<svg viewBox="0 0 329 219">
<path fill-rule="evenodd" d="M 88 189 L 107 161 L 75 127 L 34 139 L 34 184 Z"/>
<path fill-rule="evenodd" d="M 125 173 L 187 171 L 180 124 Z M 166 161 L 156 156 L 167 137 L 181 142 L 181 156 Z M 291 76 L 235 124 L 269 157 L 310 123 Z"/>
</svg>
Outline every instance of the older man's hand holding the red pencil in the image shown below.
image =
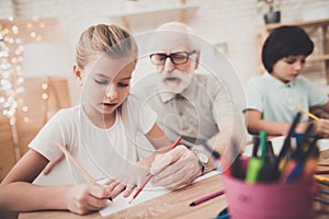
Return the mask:
<svg viewBox="0 0 329 219">
<path fill-rule="evenodd" d="M 192 183 L 202 171 L 195 154 L 180 145 L 167 153 L 158 154 L 150 173 L 154 174 L 154 185 L 174 189 Z"/>
</svg>

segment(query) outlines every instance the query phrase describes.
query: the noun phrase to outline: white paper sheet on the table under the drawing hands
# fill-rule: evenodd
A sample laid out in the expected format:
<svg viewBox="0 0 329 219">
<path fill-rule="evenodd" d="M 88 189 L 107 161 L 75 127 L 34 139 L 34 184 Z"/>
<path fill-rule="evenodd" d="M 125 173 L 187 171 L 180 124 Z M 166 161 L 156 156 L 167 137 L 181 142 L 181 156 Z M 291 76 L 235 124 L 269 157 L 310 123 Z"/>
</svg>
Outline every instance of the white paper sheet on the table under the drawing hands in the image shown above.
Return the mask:
<svg viewBox="0 0 329 219">
<path fill-rule="evenodd" d="M 208 178 L 216 174 L 218 174 L 217 171 L 212 171 L 203 176 L 195 178 L 195 181 L 193 183 L 203 181 L 203 180 Z M 113 201 L 109 200 L 107 206 L 104 207 L 102 210 L 100 210 L 100 214 L 102 217 L 105 217 L 105 216 L 112 215 L 114 212 L 117 212 L 120 210 L 133 207 L 137 204 L 144 203 L 146 200 L 156 198 L 156 197 L 163 195 L 166 193 L 169 193 L 169 192 L 170 191 L 168 191 L 163 187 L 156 187 L 156 186 L 152 186 L 150 183 L 148 183 L 132 204 L 128 204 L 128 203 L 132 199 L 135 191 L 133 191 L 133 194 L 127 198 L 123 197 L 123 193 L 121 193 Z"/>
</svg>

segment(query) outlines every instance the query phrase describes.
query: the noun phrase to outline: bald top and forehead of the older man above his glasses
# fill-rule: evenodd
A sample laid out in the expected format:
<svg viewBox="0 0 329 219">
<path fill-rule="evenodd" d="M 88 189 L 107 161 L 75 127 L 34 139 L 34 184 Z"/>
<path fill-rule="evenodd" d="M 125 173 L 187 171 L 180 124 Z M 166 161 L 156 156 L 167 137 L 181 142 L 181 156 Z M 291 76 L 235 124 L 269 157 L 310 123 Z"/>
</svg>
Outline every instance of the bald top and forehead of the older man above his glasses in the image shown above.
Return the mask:
<svg viewBox="0 0 329 219">
<path fill-rule="evenodd" d="M 152 34 L 150 41 L 151 51 L 190 51 L 193 50 L 189 34 L 158 31 Z"/>
</svg>

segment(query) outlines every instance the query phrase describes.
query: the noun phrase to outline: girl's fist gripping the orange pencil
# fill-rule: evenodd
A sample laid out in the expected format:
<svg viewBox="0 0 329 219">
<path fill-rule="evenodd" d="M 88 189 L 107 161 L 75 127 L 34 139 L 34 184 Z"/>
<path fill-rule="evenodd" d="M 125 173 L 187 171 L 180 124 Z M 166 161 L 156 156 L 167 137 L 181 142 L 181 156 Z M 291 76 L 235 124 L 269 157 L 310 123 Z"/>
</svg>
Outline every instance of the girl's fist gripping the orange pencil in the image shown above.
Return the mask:
<svg viewBox="0 0 329 219">
<path fill-rule="evenodd" d="M 109 197 L 110 193 L 105 186 L 80 184 L 69 187 L 66 206 L 75 214 L 86 215 L 105 207 Z"/>
</svg>

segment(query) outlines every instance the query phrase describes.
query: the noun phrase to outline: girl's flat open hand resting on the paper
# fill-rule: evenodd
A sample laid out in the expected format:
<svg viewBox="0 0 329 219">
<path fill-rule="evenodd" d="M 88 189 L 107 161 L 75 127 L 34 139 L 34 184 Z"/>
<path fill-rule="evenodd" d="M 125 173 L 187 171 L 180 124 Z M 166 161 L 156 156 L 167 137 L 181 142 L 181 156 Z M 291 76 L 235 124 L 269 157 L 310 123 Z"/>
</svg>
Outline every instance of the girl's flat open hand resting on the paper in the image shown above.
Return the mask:
<svg viewBox="0 0 329 219">
<path fill-rule="evenodd" d="M 111 192 L 111 198 L 115 198 L 120 193 L 124 192 L 124 197 L 128 197 L 136 186 L 139 186 L 149 173 L 149 168 L 145 168 L 140 162 L 134 168 L 116 178 L 109 180 L 105 185 Z"/>
</svg>

